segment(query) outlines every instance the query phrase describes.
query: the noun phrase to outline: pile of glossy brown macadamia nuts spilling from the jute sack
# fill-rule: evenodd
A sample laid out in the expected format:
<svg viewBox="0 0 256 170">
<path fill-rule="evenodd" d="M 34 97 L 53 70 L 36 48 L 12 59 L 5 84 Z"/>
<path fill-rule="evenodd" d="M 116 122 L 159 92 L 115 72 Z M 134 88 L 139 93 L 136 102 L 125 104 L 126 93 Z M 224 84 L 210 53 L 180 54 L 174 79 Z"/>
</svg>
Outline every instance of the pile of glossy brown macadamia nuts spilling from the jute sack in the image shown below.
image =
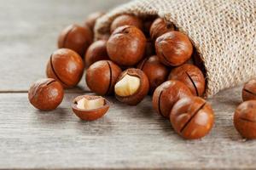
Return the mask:
<svg viewBox="0 0 256 170">
<path fill-rule="evenodd" d="M 170 119 L 184 139 L 206 136 L 214 113 L 201 98 L 205 71 L 189 37 L 165 19 L 122 14 L 109 27 L 110 36 L 93 41 L 96 20 L 102 15 L 90 14 L 84 26 L 71 25 L 61 31 L 59 49 L 50 55 L 46 67 L 48 78 L 35 82 L 28 92 L 31 104 L 42 111 L 54 110 L 61 104 L 63 88 L 75 87 L 85 69 L 86 84 L 97 96 L 73 99 L 73 112 L 80 119 L 93 121 L 107 113 L 110 105 L 102 96 L 114 95 L 119 102 L 138 105 L 149 94 L 154 110 Z M 245 98 L 255 99 L 255 82 L 254 91 L 244 88 Z M 256 136 L 256 125 L 250 121 L 256 120 L 255 102 L 236 111 L 236 128 L 247 138 Z M 251 112 L 244 113 L 244 107 Z M 253 133 L 248 133 L 250 128 Z"/>
</svg>

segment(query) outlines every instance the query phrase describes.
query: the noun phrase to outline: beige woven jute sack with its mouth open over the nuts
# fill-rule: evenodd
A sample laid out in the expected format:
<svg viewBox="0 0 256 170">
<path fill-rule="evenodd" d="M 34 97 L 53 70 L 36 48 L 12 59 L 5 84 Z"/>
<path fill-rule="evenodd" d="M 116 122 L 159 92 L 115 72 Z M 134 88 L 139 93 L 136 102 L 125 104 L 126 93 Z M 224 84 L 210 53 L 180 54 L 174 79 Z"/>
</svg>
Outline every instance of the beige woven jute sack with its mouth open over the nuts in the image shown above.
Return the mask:
<svg viewBox="0 0 256 170">
<path fill-rule="evenodd" d="M 207 70 L 207 97 L 256 76 L 256 0 L 137 0 L 96 22 L 96 38 L 119 14 L 159 15 L 193 42 Z"/>
</svg>

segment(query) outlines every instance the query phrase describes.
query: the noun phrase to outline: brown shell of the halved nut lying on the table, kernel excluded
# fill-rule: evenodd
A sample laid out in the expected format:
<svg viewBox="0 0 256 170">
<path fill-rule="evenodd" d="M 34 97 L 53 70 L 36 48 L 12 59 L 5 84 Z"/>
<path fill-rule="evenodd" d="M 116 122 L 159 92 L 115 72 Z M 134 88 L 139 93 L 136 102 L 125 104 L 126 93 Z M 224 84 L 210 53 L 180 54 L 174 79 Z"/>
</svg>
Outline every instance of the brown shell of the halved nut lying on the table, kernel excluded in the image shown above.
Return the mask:
<svg viewBox="0 0 256 170">
<path fill-rule="evenodd" d="M 82 96 L 78 96 L 75 99 L 73 99 L 73 104 L 72 104 L 72 110 L 75 113 L 76 116 L 78 116 L 80 119 L 84 120 L 84 121 L 95 121 L 96 119 L 101 118 L 102 116 L 104 116 L 110 106 L 110 103 L 107 99 L 104 99 L 105 101 L 105 105 L 103 105 L 100 108 L 97 109 L 92 109 L 92 110 L 83 110 L 83 109 L 79 109 L 77 107 L 77 103 L 79 101 L 79 99 L 98 99 L 98 98 L 102 98 L 101 96 L 93 96 L 93 95 L 82 95 Z"/>
</svg>

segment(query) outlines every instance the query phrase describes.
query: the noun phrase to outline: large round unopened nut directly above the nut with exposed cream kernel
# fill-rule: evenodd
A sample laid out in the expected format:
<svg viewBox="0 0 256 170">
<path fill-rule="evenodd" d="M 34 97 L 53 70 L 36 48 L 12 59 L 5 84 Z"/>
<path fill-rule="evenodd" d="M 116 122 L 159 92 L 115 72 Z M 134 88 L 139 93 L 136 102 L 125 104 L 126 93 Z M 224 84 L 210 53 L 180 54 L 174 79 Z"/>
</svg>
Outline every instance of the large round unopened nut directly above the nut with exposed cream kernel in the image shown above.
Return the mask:
<svg viewBox="0 0 256 170">
<path fill-rule="evenodd" d="M 136 65 L 143 59 L 146 42 L 146 37 L 137 27 L 119 27 L 108 39 L 108 56 L 120 66 Z"/>
</svg>

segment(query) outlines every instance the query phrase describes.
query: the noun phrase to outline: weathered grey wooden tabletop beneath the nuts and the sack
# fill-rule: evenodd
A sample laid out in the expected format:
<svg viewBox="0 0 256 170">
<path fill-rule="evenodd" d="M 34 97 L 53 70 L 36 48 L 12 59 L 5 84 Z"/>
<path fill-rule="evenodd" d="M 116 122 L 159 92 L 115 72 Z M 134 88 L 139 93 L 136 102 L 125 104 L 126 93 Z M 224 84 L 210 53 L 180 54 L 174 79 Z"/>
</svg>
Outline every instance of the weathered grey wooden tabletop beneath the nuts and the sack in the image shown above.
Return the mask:
<svg viewBox="0 0 256 170">
<path fill-rule="evenodd" d="M 70 102 L 88 90 L 84 78 L 55 111 L 37 111 L 28 103 L 27 89 L 45 77 L 61 29 L 125 2 L 1 0 L 0 168 L 256 167 L 256 141 L 241 139 L 232 122 L 241 87 L 209 100 L 215 126 L 206 138 L 192 141 L 181 139 L 169 121 L 155 114 L 150 97 L 134 107 L 109 97 L 113 105 L 107 116 L 80 121 Z"/>
</svg>

